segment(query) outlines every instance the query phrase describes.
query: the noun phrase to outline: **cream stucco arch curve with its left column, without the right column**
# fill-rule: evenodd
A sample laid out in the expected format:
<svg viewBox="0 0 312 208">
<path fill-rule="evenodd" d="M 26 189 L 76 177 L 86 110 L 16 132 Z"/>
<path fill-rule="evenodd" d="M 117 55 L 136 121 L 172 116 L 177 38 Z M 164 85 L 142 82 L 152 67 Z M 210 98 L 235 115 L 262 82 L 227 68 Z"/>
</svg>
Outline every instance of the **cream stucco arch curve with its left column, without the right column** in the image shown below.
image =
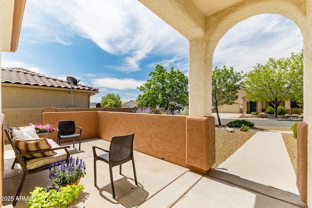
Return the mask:
<svg viewBox="0 0 312 208">
<path fill-rule="evenodd" d="M 211 76 L 215 47 L 223 35 L 238 22 L 260 14 L 278 14 L 294 21 L 302 34 L 304 10 L 288 0 L 243 1 L 206 19 L 206 34 L 190 40 L 190 115 L 211 116 Z M 207 104 L 208 102 L 208 104 Z"/>
</svg>

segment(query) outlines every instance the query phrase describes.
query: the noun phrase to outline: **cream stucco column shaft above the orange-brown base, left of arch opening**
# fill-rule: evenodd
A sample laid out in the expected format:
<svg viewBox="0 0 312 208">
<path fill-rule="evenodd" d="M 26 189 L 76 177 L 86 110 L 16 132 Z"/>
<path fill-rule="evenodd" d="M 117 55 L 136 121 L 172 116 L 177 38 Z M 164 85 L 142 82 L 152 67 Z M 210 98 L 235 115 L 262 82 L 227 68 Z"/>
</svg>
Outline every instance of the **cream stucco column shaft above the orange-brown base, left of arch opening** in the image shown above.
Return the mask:
<svg viewBox="0 0 312 208">
<path fill-rule="evenodd" d="M 189 42 L 189 115 L 212 115 L 212 53 L 205 37 Z"/>
</svg>

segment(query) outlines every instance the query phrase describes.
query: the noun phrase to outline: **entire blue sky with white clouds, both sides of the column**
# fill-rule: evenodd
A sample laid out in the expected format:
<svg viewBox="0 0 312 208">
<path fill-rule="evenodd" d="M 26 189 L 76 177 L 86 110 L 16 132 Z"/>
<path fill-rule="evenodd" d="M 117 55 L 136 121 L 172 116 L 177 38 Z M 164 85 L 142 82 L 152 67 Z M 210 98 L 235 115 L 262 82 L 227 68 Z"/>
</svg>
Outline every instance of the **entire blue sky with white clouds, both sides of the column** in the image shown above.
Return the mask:
<svg viewBox="0 0 312 208">
<path fill-rule="evenodd" d="M 257 15 L 236 24 L 219 41 L 214 67 L 249 72 L 269 57 L 303 48 L 299 28 L 279 15 Z M 27 0 L 16 53 L 1 53 L 2 67 L 99 88 L 91 102 L 114 93 L 136 99 L 137 87 L 156 64 L 188 76 L 188 40 L 137 0 Z"/>
</svg>

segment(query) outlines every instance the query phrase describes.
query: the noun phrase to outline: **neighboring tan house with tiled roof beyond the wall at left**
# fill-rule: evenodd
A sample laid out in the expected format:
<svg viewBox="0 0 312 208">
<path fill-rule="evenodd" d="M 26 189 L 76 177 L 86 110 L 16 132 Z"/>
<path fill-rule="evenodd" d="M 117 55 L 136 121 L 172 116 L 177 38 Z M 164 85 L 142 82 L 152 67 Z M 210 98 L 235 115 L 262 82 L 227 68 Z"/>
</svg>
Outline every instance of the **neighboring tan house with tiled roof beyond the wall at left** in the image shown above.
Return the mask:
<svg viewBox="0 0 312 208">
<path fill-rule="evenodd" d="M 2 109 L 90 108 L 98 88 L 44 76 L 23 68 L 1 68 Z"/>
</svg>

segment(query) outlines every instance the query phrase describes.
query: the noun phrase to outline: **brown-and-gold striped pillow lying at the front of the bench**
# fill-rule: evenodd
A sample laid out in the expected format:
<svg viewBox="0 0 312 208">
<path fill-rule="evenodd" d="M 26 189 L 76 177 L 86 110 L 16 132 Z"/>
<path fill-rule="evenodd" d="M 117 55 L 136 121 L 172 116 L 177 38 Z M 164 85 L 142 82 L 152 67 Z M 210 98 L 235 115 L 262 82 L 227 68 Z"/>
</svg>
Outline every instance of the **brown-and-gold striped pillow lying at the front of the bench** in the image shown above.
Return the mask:
<svg viewBox="0 0 312 208">
<path fill-rule="evenodd" d="M 18 151 L 20 151 L 20 153 L 37 151 L 37 150 L 47 150 L 47 149 L 51 149 L 52 147 L 46 138 L 39 138 L 36 140 L 26 140 L 26 141 L 19 141 L 19 140 L 13 140 L 13 141 L 15 144 L 15 148 Z M 31 158 L 36 158 L 36 157 L 52 156 L 55 154 L 57 154 L 57 152 L 55 151 L 45 151 L 41 153 L 25 155 L 25 158 L 31 159 Z"/>
</svg>

